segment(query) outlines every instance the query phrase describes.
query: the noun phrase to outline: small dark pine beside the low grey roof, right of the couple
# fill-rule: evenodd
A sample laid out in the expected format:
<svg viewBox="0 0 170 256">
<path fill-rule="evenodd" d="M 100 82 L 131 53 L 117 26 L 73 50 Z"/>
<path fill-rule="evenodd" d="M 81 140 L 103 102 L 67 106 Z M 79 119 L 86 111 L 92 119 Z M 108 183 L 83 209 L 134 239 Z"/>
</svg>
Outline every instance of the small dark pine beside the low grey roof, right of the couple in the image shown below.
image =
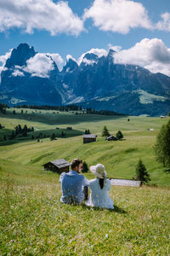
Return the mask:
<svg viewBox="0 0 170 256">
<path fill-rule="evenodd" d="M 140 159 L 138 165 L 136 166 L 136 180 L 140 180 L 142 183 L 148 183 L 150 181 L 150 175 L 146 171 L 146 167 L 144 166 L 142 160 Z"/>
</svg>

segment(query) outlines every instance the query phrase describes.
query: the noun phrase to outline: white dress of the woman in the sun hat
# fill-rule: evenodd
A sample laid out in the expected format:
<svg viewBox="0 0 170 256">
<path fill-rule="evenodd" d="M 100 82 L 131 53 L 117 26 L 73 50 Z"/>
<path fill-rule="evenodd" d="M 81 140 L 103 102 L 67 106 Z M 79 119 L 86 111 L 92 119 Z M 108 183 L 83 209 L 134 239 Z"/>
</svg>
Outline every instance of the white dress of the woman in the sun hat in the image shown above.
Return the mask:
<svg viewBox="0 0 170 256">
<path fill-rule="evenodd" d="M 98 177 L 89 180 L 89 188 L 91 194 L 88 201 L 86 201 L 88 207 L 114 208 L 113 201 L 109 196 L 109 190 L 111 190 L 111 181 L 109 179 L 105 178 L 103 189 L 100 189 Z"/>
</svg>

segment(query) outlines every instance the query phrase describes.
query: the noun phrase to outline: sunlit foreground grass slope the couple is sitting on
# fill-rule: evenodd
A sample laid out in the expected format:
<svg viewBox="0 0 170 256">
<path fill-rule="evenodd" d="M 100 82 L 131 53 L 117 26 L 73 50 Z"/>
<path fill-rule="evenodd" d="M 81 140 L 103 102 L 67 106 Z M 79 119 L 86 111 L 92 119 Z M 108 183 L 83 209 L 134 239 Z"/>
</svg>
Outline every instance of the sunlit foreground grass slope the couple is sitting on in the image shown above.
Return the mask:
<svg viewBox="0 0 170 256">
<path fill-rule="evenodd" d="M 170 190 L 112 187 L 115 209 L 59 202 L 58 177 L 1 179 L 1 255 L 169 255 Z"/>
</svg>

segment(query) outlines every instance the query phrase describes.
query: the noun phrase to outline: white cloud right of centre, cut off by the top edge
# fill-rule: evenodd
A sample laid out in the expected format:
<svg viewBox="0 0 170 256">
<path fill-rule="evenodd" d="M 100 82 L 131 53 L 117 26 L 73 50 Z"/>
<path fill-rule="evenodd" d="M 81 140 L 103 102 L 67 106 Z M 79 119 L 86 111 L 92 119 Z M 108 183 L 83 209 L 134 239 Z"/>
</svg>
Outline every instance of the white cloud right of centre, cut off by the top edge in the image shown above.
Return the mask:
<svg viewBox="0 0 170 256">
<path fill-rule="evenodd" d="M 83 19 L 88 18 L 102 31 L 126 34 L 135 27 L 153 28 L 142 3 L 130 0 L 94 0 L 84 11 Z"/>
</svg>

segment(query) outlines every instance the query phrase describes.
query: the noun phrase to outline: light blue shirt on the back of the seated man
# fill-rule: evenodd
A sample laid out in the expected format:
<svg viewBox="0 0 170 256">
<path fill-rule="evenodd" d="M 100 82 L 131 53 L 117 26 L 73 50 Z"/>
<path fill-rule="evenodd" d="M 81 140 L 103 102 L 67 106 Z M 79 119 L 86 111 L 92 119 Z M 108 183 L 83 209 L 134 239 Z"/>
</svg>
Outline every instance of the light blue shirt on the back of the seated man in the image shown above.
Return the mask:
<svg viewBox="0 0 170 256">
<path fill-rule="evenodd" d="M 84 199 L 82 189 L 84 186 L 88 186 L 88 179 L 86 177 L 79 175 L 75 171 L 70 171 L 68 173 L 63 172 L 59 177 L 59 182 L 61 183 L 62 189 L 60 201 L 68 204 L 82 203 Z"/>
</svg>

